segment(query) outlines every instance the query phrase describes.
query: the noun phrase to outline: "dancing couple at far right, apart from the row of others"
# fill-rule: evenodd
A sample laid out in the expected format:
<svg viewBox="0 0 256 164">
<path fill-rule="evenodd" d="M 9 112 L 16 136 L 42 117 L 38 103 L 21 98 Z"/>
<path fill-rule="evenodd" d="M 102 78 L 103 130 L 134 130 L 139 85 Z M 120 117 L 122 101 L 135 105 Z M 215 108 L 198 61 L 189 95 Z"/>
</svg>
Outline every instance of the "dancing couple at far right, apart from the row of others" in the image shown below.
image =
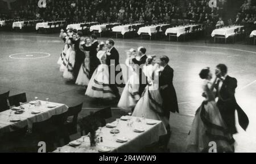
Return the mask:
<svg viewBox="0 0 256 164">
<path fill-rule="evenodd" d="M 236 110 L 241 127 L 246 130 L 249 125 L 248 117 L 237 104 L 234 96 L 237 79 L 230 77 L 227 73 L 226 65 L 217 65 L 216 77 L 212 82 L 210 68 L 201 70 L 199 75 L 201 79 L 204 79 L 202 89 L 205 100 L 196 111 L 187 138 L 187 152 L 234 152 L 233 134 L 237 133 Z M 210 142 L 216 144 L 213 150 L 209 148 Z"/>
</svg>

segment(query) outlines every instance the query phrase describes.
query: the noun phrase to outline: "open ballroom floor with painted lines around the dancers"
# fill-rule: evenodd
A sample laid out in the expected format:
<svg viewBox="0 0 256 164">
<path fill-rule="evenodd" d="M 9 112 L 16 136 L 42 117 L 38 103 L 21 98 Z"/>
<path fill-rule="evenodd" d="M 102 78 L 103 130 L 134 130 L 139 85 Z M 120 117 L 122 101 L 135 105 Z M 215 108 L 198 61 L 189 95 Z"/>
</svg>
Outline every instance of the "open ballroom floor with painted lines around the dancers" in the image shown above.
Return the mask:
<svg viewBox="0 0 256 164">
<path fill-rule="evenodd" d="M 148 55 L 170 57 L 170 66 L 175 70 L 174 86 L 180 107 L 179 115 L 171 115 L 171 152 L 184 152 L 193 116 L 203 100 L 202 81 L 198 75 L 200 70 L 209 66 L 214 71 L 220 63 L 226 64 L 228 74 L 237 78 L 236 98 L 250 120 L 246 132 L 237 126 L 240 133 L 234 136 L 237 141 L 236 152 L 256 152 L 255 45 L 205 44 L 202 40 L 114 40 L 122 64 L 126 58 L 125 51 L 140 46 L 146 47 Z M 0 92 L 10 90 L 10 95 L 26 92 L 28 100 L 38 96 L 39 99 L 49 98 L 51 102 L 68 106 L 84 102 L 84 110 L 100 107 L 84 95 L 84 87 L 68 83 L 61 77 L 57 60 L 62 49 L 63 41 L 57 34 L 0 32 Z M 118 115 L 118 110 L 114 110 L 114 113 Z"/>
</svg>

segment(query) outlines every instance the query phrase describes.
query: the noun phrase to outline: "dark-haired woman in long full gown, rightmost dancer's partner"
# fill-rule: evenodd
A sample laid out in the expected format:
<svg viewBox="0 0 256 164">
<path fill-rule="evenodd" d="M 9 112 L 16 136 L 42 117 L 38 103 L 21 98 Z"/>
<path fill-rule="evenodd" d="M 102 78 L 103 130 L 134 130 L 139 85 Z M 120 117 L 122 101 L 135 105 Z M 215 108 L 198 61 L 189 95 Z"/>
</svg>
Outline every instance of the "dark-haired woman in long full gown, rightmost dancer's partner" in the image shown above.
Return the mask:
<svg viewBox="0 0 256 164">
<path fill-rule="evenodd" d="M 228 131 L 214 98 L 214 82 L 210 82 L 212 74 L 209 68 L 201 70 L 204 79 L 204 102 L 196 111 L 191 131 L 187 138 L 187 152 L 234 152 L 234 138 Z M 213 147 L 210 147 L 213 146 Z"/>
</svg>

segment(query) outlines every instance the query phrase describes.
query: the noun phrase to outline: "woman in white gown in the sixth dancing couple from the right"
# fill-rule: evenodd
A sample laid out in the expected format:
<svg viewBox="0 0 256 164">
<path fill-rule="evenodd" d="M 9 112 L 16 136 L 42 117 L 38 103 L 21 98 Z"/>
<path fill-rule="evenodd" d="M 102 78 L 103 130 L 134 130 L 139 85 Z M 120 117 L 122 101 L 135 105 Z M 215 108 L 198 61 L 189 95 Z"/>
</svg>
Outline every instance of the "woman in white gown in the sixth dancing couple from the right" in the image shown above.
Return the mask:
<svg viewBox="0 0 256 164">
<path fill-rule="evenodd" d="M 67 45 L 69 48 L 67 50 L 67 54 L 64 59 L 65 69 L 63 72 L 63 77 L 65 79 L 72 80 L 74 79 L 73 68 L 75 65 L 75 55 L 76 55 L 72 38 L 69 38 L 67 40 Z"/>
</svg>

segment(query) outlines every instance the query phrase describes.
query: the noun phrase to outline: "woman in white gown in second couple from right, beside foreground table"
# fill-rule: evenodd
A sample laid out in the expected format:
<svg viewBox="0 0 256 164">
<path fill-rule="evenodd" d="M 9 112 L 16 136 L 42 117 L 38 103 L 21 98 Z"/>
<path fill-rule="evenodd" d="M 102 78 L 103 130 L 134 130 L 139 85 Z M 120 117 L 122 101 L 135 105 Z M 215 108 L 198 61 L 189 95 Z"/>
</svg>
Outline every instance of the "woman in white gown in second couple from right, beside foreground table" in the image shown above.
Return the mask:
<svg viewBox="0 0 256 164">
<path fill-rule="evenodd" d="M 132 116 L 160 120 L 167 127 L 169 123 L 164 116 L 163 99 L 159 90 L 159 73 L 163 68 L 159 66 L 158 62 L 158 60 L 154 60 L 154 57 L 148 56 L 147 64 L 143 68 L 148 85 L 135 106 Z"/>
</svg>

